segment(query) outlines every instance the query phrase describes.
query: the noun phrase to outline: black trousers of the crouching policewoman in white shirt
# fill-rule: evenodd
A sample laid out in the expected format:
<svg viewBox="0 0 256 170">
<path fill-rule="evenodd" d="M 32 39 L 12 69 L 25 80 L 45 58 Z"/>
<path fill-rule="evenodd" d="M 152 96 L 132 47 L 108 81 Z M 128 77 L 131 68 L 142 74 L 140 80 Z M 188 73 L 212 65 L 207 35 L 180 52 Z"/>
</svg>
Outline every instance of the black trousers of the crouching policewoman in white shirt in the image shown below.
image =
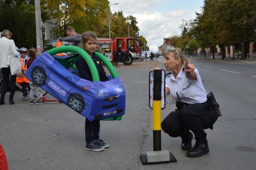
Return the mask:
<svg viewBox="0 0 256 170">
<path fill-rule="evenodd" d="M 171 112 L 161 123 L 162 130 L 172 137 L 178 137 L 191 130 L 195 137 L 206 137 L 204 129 L 213 128 L 218 113 L 205 104 L 197 103 Z"/>
</svg>

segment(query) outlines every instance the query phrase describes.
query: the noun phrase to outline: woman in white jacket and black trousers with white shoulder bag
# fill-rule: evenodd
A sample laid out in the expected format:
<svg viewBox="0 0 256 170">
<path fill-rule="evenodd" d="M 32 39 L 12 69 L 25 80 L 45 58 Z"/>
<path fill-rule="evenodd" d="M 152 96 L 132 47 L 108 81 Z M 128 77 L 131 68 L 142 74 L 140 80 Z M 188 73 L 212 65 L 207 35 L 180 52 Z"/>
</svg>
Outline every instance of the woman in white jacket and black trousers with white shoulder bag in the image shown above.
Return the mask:
<svg viewBox="0 0 256 170">
<path fill-rule="evenodd" d="M 16 45 L 13 40 L 10 40 L 12 33 L 9 30 L 4 30 L 1 32 L 0 38 L 0 68 L 3 74 L 2 88 L 1 88 L 1 97 L 0 105 L 4 104 L 4 96 L 7 92 L 8 85 L 10 84 L 10 97 L 9 104 L 13 105 L 13 97 L 16 90 L 16 75 L 11 75 L 10 66 L 8 63 L 9 55 L 18 55 L 16 50 Z M 11 52 L 12 51 L 12 52 Z"/>
</svg>

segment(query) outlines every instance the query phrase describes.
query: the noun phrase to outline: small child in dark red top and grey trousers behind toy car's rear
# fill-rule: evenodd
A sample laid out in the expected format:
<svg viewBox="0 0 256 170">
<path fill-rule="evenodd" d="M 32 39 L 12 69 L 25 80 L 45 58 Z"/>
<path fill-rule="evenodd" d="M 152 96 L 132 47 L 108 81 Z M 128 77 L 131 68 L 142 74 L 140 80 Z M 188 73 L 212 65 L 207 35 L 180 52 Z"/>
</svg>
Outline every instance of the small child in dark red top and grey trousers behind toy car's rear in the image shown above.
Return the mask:
<svg viewBox="0 0 256 170">
<path fill-rule="evenodd" d="M 33 63 L 33 61 L 36 59 L 37 53 L 36 49 L 31 48 L 28 50 L 28 55 L 30 56 L 30 60 L 27 62 L 27 68 L 30 67 L 30 65 Z M 30 85 L 30 105 L 34 105 L 34 94 L 36 92 L 36 104 L 44 104 L 44 101 L 41 100 L 41 88 L 33 83 L 32 81 L 29 81 Z"/>
</svg>

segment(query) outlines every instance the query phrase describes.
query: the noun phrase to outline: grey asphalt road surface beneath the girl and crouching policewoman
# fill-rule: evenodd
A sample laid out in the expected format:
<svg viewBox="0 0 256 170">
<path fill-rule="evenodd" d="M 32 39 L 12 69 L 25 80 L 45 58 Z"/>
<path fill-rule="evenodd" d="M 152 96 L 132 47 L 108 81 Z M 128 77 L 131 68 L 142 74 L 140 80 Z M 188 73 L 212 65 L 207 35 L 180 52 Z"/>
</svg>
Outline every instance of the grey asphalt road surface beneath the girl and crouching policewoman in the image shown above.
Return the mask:
<svg viewBox="0 0 256 170">
<path fill-rule="evenodd" d="M 162 60 L 160 56 L 116 68 L 126 90 L 126 114 L 121 121 L 101 121 L 100 138 L 110 144 L 102 152 L 85 150 L 84 117 L 58 102 L 29 105 L 16 91 L 15 105 L 0 106 L 0 143 L 9 169 L 255 169 L 256 64 L 203 59 L 190 61 L 198 68 L 206 91 L 214 92 L 222 111 L 213 130 L 206 130 L 210 153 L 188 158 L 180 148 L 181 139 L 162 132 L 162 150 L 171 152 L 177 162 L 142 165 L 140 154 L 153 151 L 148 74 L 152 67 L 164 68 Z M 53 98 L 48 94 L 46 99 Z M 166 101 L 173 100 L 168 96 Z M 173 103 L 166 103 L 162 119 L 174 109 Z"/>
</svg>

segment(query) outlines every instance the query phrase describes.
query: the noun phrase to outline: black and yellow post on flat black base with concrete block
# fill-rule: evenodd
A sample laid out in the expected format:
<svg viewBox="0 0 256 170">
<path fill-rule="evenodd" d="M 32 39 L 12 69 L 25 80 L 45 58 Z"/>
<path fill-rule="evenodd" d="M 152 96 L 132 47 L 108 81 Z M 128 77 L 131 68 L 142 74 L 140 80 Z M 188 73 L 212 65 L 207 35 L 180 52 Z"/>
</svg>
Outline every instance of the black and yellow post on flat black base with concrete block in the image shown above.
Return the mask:
<svg viewBox="0 0 256 170">
<path fill-rule="evenodd" d="M 161 109 L 165 108 L 165 72 L 164 70 L 150 71 L 150 108 L 153 109 L 153 150 L 141 154 L 143 165 L 177 162 L 168 150 L 161 150 Z M 152 97 L 153 96 L 153 97 Z M 153 107 L 154 106 L 154 107 Z"/>
</svg>

